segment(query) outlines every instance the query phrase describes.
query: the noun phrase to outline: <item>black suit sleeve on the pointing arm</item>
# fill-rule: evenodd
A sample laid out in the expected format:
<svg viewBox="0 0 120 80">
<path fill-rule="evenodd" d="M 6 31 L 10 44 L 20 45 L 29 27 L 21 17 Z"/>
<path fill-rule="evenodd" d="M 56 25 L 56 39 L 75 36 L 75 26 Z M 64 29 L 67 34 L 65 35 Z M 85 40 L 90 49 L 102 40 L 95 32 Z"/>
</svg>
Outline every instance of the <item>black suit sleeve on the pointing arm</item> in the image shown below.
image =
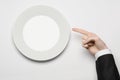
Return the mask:
<svg viewBox="0 0 120 80">
<path fill-rule="evenodd" d="M 98 80 L 120 80 L 112 54 L 99 57 L 96 61 Z"/>
</svg>

